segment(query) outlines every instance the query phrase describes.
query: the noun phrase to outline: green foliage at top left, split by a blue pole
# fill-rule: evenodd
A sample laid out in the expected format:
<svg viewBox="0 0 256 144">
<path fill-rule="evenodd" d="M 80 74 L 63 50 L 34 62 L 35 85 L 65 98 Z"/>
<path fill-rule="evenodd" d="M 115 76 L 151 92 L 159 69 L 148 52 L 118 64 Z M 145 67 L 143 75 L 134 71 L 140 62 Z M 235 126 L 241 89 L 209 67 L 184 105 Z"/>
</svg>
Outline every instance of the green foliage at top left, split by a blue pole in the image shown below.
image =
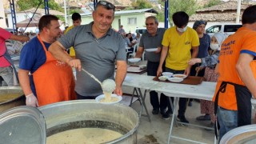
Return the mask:
<svg viewBox="0 0 256 144">
<path fill-rule="evenodd" d="M 41 5 L 39 6 L 40 8 L 43 8 L 44 9 L 44 0 L 18 0 L 17 1 L 17 5 L 18 5 L 18 10 L 29 10 L 33 7 L 38 7 L 38 4 L 41 3 Z M 49 0 L 48 1 L 48 5 L 49 5 L 49 8 L 51 10 L 58 10 L 58 11 L 61 11 L 63 12 L 64 10 L 62 9 L 61 6 L 58 5 L 57 2 L 55 2 L 54 0 Z"/>
</svg>

